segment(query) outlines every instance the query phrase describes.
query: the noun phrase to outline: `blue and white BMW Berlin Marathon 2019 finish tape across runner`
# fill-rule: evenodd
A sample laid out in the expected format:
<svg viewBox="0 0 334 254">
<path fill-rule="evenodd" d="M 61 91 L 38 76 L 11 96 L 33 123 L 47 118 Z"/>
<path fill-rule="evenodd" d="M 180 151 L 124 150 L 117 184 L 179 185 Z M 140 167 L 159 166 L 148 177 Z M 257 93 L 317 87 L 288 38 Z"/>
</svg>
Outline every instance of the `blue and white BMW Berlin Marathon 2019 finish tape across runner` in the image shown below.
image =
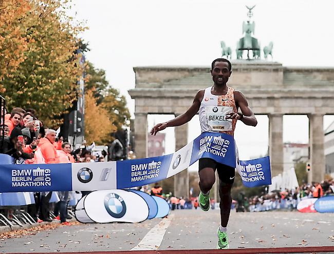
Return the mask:
<svg viewBox="0 0 334 254">
<path fill-rule="evenodd" d="M 240 161 L 233 136 L 219 132 L 203 132 L 180 150 L 153 158 L 30 165 L 6 164 L 8 158 L 2 158 L 0 192 L 132 188 L 172 177 L 200 158 L 236 168 L 247 187 L 271 184 L 269 157 Z"/>
</svg>

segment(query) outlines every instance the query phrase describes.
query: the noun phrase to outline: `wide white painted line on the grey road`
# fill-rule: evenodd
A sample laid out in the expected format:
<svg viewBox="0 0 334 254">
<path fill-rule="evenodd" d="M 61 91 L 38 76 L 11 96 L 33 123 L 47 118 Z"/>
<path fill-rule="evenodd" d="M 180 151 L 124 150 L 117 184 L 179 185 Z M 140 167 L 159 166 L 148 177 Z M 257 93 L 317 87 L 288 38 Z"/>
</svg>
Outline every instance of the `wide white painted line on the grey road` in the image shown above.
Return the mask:
<svg viewBox="0 0 334 254">
<path fill-rule="evenodd" d="M 156 250 L 160 247 L 163 236 L 171 224 L 171 220 L 174 214 L 171 214 L 168 218 L 164 218 L 158 223 L 154 228 L 152 228 L 143 240 L 138 243 L 138 245 L 131 250 Z"/>
</svg>

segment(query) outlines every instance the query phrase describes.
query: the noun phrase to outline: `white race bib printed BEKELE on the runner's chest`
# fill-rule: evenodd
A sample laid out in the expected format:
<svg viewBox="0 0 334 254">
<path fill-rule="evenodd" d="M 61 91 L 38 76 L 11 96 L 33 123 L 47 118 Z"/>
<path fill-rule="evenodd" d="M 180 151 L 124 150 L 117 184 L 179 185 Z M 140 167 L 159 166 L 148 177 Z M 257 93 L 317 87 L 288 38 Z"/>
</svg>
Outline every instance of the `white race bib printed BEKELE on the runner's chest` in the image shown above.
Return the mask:
<svg viewBox="0 0 334 254">
<path fill-rule="evenodd" d="M 207 126 L 212 131 L 232 130 L 232 119 L 226 119 L 226 116 L 232 112 L 232 107 L 207 106 L 205 108 Z"/>
</svg>

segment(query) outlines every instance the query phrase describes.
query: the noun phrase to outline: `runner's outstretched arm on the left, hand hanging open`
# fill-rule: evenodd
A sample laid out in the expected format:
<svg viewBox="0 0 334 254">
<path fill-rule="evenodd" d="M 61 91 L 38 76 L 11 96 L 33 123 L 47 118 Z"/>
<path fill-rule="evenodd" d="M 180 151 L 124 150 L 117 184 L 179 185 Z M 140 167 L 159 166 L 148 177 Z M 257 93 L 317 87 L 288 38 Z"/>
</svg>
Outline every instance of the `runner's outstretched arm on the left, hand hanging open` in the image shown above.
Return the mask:
<svg viewBox="0 0 334 254">
<path fill-rule="evenodd" d="M 199 90 L 195 96 L 193 104 L 187 111 L 185 111 L 183 114 L 176 116 L 176 118 L 168 122 L 157 124 L 152 128 L 151 135 L 155 135 L 158 131 L 164 130 L 167 127 L 180 126 L 182 124 L 188 123 L 194 117 L 194 115 L 197 114 L 203 96 L 204 90 Z"/>
</svg>

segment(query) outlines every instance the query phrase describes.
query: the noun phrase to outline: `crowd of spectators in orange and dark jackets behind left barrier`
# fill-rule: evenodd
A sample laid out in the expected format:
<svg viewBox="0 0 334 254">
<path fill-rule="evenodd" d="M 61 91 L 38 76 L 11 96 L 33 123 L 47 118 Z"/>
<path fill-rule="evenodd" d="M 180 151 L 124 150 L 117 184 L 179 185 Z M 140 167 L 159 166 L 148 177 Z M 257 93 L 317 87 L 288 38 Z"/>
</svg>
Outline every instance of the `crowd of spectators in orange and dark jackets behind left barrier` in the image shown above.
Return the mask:
<svg viewBox="0 0 334 254">
<path fill-rule="evenodd" d="M 101 157 L 92 154 L 95 146 L 86 145 L 84 141 L 76 150 L 72 145 L 58 139 L 57 132 L 46 128 L 39 120 L 33 109 L 13 108 L 10 113 L 1 109 L 0 138 L 3 138 L 0 153 L 8 154 L 14 158 L 14 164 L 50 164 L 75 162 L 101 162 L 105 160 L 102 151 Z M 4 119 L 4 120 L 3 120 Z M 28 206 L 30 216 L 36 222 L 60 220 L 67 225 L 67 205 L 73 198 L 72 191 L 58 191 L 60 201 L 54 205 L 54 213 L 50 213 L 50 199 L 52 191 L 35 192 L 35 204 Z M 54 218 L 52 218 L 54 214 Z M 52 216 L 51 216 L 52 215 Z"/>
</svg>

